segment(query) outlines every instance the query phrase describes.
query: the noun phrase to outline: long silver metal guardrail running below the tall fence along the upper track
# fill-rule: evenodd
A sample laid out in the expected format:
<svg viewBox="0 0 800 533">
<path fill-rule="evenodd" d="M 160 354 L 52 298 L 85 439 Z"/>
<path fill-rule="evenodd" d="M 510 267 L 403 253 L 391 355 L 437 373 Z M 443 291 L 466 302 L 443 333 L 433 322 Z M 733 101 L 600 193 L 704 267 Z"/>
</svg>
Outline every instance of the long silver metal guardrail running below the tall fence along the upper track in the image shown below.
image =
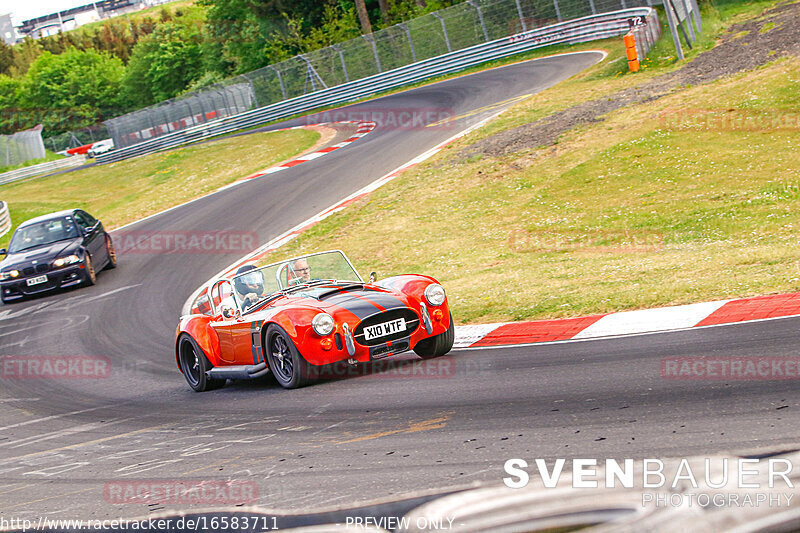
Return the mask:
<svg viewBox="0 0 800 533">
<path fill-rule="evenodd" d="M 643 16 L 648 21 L 643 29 L 637 30 L 639 34 L 637 37 L 641 39 L 644 47 L 643 51 L 646 53 L 657 40 L 661 31 L 658 16 L 653 8 L 637 7 L 591 15 L 524 31 L 510 37 L 496 39 L 435 58 L 418 61 L 382 74 L 308 93 L 215 122 L 208 122 L 176 131 L 99 155 L 97 161 L 99 163 L 110 163 L 175 148 L 209 137 L 259 126 L 313 109 L 357 100 L 382 91 L 451 74 L 487 61 L 545 46 L 565 43 L 575 44 L 621 35 L 630 29 L 628 20 L 637 16 Z"/>
</svg>

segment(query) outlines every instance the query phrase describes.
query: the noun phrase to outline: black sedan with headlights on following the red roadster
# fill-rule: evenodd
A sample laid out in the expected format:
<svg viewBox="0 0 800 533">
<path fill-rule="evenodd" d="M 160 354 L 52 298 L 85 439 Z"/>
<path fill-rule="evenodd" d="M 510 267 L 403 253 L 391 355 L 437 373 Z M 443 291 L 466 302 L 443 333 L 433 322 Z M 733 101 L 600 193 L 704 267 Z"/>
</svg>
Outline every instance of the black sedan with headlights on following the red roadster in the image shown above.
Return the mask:
<svg viewBox="0 0 800 533">
<path fill-rule="evenodd" d="M 94 285 L 97 272 L 117 266 L 111 236 L 86 211 L 70 209 L 19 225 L 0 250 L 3 303 L 75 285 Z"/>
</svg>

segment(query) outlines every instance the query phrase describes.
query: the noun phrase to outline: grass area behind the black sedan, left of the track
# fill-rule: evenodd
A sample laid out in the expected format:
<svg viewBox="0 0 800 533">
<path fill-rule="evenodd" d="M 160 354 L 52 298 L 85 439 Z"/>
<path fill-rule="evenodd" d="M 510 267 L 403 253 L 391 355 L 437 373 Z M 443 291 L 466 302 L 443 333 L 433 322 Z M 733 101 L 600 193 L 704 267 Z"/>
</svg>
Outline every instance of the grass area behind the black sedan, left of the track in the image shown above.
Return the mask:
<svg viewBox="0 0 800 533">
<path fill-rule="evenodd" d="M 114 228 L 215 191 L 305 151 L 320 134 L 287 130 L 232 137 L 68 174 L 0 186 L 14 227 L 80 207 Z M 11 232 L 0 238 L 5 247 Z"/>
</svg>

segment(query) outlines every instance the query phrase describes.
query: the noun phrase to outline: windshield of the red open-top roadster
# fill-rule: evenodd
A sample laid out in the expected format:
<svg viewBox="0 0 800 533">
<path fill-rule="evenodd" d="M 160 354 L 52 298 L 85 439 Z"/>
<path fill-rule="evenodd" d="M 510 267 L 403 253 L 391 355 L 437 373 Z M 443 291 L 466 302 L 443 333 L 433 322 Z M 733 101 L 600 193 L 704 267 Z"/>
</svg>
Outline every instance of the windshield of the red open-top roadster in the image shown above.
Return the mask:
<svg viewBox="0 0 800 533">
<path fill-rule="evenodd" d="M 249 270 L 233 278 L 236 301 L 243 312 L 269 297 L 319 285 L 324 281 L 363 283 L 342 252 L 322 252 L 295 257 Z"/>
</svg>

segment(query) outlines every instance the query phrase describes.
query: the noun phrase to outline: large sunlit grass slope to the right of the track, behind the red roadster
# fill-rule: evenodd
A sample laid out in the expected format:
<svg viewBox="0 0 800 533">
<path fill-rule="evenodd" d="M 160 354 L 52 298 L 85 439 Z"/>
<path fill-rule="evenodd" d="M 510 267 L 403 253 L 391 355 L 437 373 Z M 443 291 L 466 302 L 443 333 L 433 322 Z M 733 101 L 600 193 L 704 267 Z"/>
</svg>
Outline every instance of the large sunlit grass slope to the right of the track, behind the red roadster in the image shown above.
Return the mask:
<svg viewBox="0 0 800 533">
<path fill-rule="evenodd" d="M 717 13 L 739 21 L 763 7 Z M 610 61 L 516 105 L 275 260 L 341 248 L 361 272 L 433 275 L 460 323 L 798 290 L 798 58 L 618 110 L 554 147 L 454 158 L 491 133 L 675 68 L 622 75 Z M 676 113 L 686 109 L 695 111 Z"/>
</svg>

